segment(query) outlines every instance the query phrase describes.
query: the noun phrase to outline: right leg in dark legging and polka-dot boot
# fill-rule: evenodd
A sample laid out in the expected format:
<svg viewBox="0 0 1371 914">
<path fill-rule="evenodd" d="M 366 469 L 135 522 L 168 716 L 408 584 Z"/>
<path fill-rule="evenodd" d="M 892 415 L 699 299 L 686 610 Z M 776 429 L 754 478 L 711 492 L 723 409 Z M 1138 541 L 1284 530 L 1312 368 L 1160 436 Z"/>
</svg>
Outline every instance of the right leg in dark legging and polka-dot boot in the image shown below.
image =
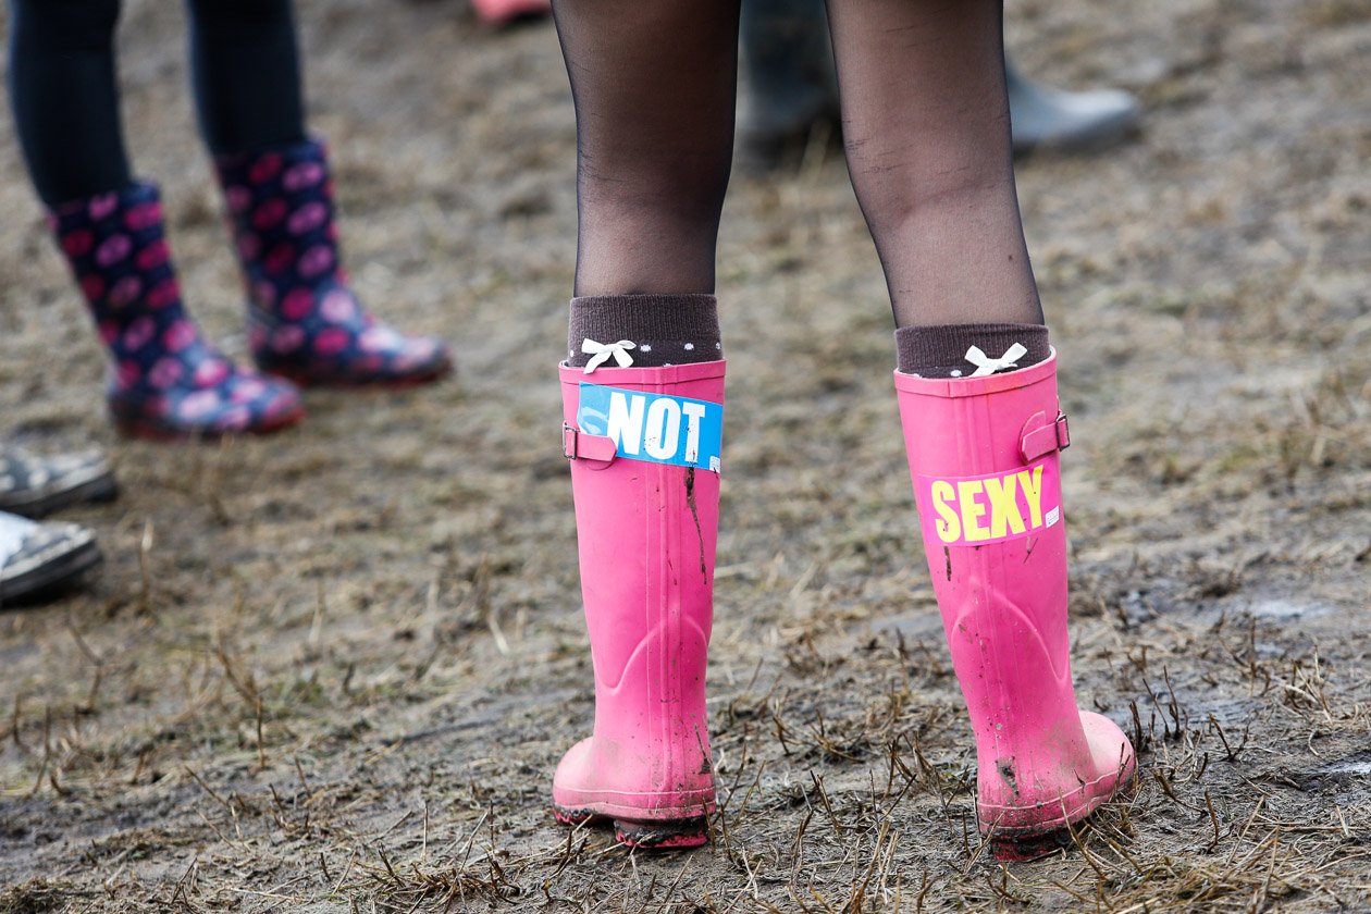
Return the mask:
<svg viewBox="0 0 1371 914">
<path fill-rule="evenodd" d="M 291 1 L 189 0 L 189 8 L 200 134 L 228 204 L 258 367 L 302 385 L 409 385 L 447 374 L 446 345 L 383 325 L 348 284 L 326 148 L 306 130 Z"/>
</svg>

